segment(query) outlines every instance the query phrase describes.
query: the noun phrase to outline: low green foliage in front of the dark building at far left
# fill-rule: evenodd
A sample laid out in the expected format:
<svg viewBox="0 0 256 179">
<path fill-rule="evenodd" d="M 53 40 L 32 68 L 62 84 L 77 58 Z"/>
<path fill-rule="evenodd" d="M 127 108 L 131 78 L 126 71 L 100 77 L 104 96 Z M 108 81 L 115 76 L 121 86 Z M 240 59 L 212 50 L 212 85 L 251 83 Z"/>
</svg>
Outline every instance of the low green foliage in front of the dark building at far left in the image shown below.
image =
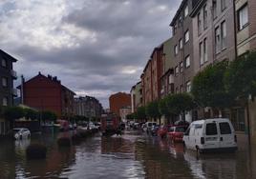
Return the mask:
<svg viewBox="0 0 256 179">
<path fill-rule="evenodd" d="M 14 121 L 15 119 L 24 117 L 24 110 L 20 107 L 7 108 L 4 110 L 4 117 L 7 120 Z"/>
</svg>

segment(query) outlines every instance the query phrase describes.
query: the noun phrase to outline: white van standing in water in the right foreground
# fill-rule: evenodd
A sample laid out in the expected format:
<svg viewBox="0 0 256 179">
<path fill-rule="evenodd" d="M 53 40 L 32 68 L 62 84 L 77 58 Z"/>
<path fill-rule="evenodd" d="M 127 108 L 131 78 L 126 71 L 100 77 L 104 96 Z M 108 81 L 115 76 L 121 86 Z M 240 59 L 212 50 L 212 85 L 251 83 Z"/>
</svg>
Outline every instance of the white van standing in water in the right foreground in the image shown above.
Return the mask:
<svg viewBox="0 0 256 179">
<path fill-rule="evenodd" d="M 237 149 L 235 130 L 224 118 L 194 121 L 184 133 L 183 143 L 187 149 L 199 152 Z"/>
</svg>

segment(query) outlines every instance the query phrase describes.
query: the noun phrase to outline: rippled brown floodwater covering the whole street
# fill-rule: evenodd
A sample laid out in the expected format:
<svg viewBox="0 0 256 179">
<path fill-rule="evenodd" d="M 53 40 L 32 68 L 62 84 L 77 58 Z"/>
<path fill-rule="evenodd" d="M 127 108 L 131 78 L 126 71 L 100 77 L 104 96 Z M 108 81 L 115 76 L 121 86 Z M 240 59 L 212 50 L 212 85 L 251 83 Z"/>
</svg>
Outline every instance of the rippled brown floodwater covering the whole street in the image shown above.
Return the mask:
<svg viewBox="0 0 256 179">
<path fill-rule="evenodd" d="M 34 134 L 31 140 L 1 141 L 0 178 L 256 178 L 256 150 L 197 156 L 181 144 L 136 131 L 109 138 L 96 134 L 70 149 L 59 149 L 57 137 Z M 38 142 L 47 145 L 47 159 L 27 160 L 25 149 Z"/>
</svg>

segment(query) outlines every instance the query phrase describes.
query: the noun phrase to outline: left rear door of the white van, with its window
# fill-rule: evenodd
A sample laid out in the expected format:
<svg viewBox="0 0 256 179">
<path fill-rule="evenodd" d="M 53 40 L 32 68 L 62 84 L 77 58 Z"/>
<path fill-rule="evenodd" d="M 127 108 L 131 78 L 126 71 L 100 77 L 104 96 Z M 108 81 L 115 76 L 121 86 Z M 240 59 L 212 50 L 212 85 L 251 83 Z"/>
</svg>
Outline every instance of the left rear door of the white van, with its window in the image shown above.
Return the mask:
<svg viewBox="0 0 256 179">
<path fill-rule="evenodd" d="M 206 149 L 219 148 L 219 134 L 216 122 L 206 123 L 205 125 L 204 147 Z"/>
</svg>

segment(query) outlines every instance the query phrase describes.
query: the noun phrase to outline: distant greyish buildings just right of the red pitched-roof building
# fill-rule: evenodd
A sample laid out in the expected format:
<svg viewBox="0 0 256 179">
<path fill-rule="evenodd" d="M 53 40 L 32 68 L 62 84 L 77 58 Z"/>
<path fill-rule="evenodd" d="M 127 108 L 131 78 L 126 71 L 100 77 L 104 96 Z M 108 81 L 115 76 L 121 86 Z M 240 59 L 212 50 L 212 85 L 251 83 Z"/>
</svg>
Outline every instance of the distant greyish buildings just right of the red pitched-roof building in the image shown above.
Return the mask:
<svg viewBox="0 0 256 179">
<path fill-rule="evenodd" d="M 75 98 L 75 115 L 88 118 L 100 117 L 103 112 L 102 105 L 95 97 L 85 96 Z"/>
</svg>

